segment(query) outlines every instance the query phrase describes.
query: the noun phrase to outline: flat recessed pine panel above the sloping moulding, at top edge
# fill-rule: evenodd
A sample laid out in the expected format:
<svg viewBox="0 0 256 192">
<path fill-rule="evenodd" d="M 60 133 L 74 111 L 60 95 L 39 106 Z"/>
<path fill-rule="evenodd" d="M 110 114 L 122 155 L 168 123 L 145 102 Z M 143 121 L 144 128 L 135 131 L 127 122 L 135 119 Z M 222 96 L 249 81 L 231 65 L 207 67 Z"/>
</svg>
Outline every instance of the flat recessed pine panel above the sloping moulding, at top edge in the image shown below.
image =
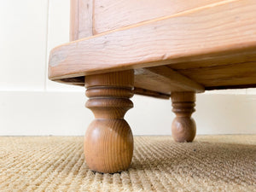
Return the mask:
<svg viewBox="0 0 256 192">
<path fill-rule="evenodd" d="M 223 0 L 95 0 L 94 34 Z"/>
</svg>

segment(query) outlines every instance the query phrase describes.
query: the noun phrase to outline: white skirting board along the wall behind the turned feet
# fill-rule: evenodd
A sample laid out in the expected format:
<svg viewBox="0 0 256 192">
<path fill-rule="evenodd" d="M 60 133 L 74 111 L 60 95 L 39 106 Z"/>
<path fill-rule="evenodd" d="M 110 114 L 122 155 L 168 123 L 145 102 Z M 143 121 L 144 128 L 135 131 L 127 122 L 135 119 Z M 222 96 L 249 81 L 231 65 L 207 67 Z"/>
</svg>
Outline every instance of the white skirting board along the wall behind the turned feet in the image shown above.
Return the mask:
<svg viewBox="0 0 256 192">
<path fill-rule="evenodd" d="M 0 91 L 1 136 L 78 136 L 94 118 L 84 92 Z M 171 102 L 134 96 L 125 119 L 134 135 L 171 135 Z M 197 134 L 256 134 L 256 95 L 197 95 Z"/>
</svg>

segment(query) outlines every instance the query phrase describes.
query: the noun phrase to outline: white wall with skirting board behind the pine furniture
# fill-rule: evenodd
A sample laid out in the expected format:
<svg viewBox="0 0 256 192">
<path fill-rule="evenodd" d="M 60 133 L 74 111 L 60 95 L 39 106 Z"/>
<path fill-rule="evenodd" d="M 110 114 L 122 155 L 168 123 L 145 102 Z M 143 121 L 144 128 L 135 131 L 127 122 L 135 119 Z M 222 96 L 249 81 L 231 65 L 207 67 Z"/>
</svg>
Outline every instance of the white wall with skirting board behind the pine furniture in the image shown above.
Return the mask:
<svg viewBox="0 0 256 192">
<path fill-rule="evenodd" d="M 69 0 L 0 2 L 0 135 L 84 135 L 84 88 L 47 79 L 49 50 L 68 42 Z M 171 102 L 132 98 L 135 135 L 170 135 Z M 198 134 L 256 134 L 256 89 L 197 96 Z"/>
</svg>

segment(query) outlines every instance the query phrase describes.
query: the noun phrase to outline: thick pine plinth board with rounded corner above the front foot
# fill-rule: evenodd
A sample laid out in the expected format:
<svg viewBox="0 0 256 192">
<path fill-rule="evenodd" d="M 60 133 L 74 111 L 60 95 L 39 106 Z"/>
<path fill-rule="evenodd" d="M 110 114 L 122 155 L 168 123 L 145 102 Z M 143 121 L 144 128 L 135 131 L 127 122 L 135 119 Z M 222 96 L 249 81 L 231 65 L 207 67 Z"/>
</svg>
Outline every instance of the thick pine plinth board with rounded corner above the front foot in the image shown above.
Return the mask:
<svg viewBox="0 0 256 192">
<path fill-rule="evenodd" d="M 255 50 L 255 10 L 253 0 L 236 1 L 61 45 L 49 56 L 49 79 Z"/>
</svg>

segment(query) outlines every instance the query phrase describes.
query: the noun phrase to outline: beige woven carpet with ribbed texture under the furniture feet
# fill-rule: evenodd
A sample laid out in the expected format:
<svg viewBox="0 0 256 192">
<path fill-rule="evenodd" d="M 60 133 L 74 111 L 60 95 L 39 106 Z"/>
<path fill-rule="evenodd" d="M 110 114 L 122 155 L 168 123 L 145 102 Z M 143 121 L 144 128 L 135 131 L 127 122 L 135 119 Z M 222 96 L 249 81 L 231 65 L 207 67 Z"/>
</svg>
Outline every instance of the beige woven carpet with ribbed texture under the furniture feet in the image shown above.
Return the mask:
<svg viewBox="0 0 256 192">
<path fill-rule="evenodd" d="M 91 172 L 83 137 L 0 137 L 0 191 L 256 191 L 256 136 L 135 137 L 127 172 Z"/>
</svg>

